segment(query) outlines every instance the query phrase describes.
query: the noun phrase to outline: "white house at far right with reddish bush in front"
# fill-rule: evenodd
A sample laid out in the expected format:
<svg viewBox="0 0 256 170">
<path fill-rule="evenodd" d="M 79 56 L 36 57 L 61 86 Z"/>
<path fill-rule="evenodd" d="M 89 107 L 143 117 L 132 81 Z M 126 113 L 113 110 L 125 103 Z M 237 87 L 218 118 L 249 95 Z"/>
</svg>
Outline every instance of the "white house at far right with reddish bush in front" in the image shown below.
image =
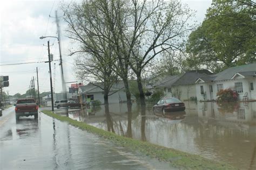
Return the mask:
<svg viewBox="0 0 256 170">
<path fill-rule="evenodd" d="M 231 88 L 239 94 L 239 100 L 246 96 L 249 100 L 256 100 L 256 63 L 231 67 L 218 74 L 199 77 L 196 81 L 198 101 L 217 99 L 220 89 Z"/>
</svg>

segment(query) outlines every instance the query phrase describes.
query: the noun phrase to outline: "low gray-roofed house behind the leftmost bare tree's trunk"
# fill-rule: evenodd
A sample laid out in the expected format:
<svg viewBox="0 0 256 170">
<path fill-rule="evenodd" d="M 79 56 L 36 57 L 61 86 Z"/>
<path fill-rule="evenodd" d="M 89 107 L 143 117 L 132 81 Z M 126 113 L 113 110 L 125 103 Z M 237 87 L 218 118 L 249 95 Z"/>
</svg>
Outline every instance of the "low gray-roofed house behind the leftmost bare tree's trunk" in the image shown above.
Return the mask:
<svg viewBox="0 0 256 170">
<path fill-rule="evenodd" d="M 86 86 L 80 86 L 78 89 L 78 95 L 80 97 L 80 102 L 86 103 L 87 98 L 90 98 L 91 101 L 98 100 L 104 104 L 104 91 L 103 84 L 89 83 Z M 100 88 L 102 87 L 102 88 Z M 109 103 L 119 103 L 126 101 L 126 93 L 123 82 L 118 82 L 112 85 L 109 91 Z"/>
</svg>

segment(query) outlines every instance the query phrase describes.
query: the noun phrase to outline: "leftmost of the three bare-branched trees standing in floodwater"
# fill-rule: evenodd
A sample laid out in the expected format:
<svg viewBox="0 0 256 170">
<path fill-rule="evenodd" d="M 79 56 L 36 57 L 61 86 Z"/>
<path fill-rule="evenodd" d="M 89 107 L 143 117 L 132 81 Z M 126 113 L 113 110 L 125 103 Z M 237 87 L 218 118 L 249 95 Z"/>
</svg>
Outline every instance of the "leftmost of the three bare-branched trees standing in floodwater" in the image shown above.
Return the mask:
<svg viewBox="0 0 256 170">
<path fill-rule="evenodd" d="M 77 75 L 84 76 L 95 86 L 104 90 L 104 103 L 108 104 L 108 96 L 112 84 L 117 82 L 113 68 L 116 57 L 113 53 L 112 34 L 105 22 L 105 16 L 98 4 L 90 1 L 82 4 L 73 3 L 65 8 L 65 22 L 68 23 L 68 37 L 79 44 L 76 59 Z"/>
</svg>

